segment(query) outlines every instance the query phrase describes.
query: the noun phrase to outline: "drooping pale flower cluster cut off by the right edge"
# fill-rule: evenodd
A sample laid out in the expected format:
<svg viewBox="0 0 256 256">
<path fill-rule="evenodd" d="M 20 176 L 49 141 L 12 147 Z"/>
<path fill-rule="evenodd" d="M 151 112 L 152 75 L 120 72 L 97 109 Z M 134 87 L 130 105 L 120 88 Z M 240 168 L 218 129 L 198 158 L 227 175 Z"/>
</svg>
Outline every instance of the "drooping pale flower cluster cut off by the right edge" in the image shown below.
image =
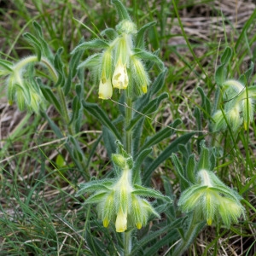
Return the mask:
<svg viewBox="0 0 256 256">
<path fill-rule="evenodd" d="M 246 87 L 234 79 L 225 81 L 222 87 L 225 105 L 224 110 L 219 109 L 212 116 L 214 130 L 224 130 L 227 124 L 233 131 L 237 131 L 242 124 L 247 130 L 249 123 L 253 121 L 256 87 Z"/>
</svg>

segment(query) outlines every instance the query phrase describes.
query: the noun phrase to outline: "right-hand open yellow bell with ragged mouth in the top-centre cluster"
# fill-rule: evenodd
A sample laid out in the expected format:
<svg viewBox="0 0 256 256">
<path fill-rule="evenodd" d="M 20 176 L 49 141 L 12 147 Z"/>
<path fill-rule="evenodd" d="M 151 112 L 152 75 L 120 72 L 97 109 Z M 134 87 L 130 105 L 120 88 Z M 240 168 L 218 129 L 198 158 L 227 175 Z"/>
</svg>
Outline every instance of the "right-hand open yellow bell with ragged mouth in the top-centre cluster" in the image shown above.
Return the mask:
<svg viewBox="0 0 256 256">
<path fill-rule="evenodd" d="M 113 88 L 126 89 L 129 83 L 126 65 L 118 61 L 113 72 L 112 84 Z"/>
</svg>

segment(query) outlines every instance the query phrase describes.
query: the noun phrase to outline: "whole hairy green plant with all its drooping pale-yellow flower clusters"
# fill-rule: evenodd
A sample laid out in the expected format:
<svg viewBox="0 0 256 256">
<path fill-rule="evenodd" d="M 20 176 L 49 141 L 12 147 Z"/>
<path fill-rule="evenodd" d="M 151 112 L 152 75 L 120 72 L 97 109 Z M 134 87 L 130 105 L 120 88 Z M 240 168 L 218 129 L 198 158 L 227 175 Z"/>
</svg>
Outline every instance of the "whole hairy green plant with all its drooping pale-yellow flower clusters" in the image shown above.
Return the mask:
<svg viewBox="0 0 256 256">
<path fill-rule="evenodd" d="M 112 3 L 119 14 L 118 25 L 106 28 L 90 41 L 81 39 L 72 50 L 67 67 L 61 61 L 63 49 L 53 54 L 41 26 L 33 22 L 37 35 L 24 36 L 36 54 L 15 64 L 0 60 L 0 76 L 6 78 L 9 103 L 17 102 L 21 111 L 27 109 L 46 119 L 55 136 L 64 142 L 73 170 L 79 172 L 81 178 L 69 184 L 76 190 L 73 200 L 83 204 L 79 211 L 87 209 L 85 238 L 79 235 L 86 255 L 156 255 L 163 246 L 168 247 L 165 255 L 169 251 L 174 256 L 182 255 L 207 224 L 230 228 L 231 224 L 239 223 L 239 218 L 246 218 L 241 195 L 217 176 L 222 148 L 221 142 L 215 140 L 215 131 L 231 127 L 233 135 L 242 124 L 248 131 L 256 96 L 255 86 L 247 87 L 253 65 L 240 79 L 228 79 L 226 67 L 232 52 L 225 49 L 215 74 L 218 90 L 214 104 L 201 87 L 197 88 L 202 102 L 194 110 L 197 131 L 178 129 L 182 121 L 173 119 L 151 132 L 148 120 L 152 118 L 148 115 L 156 113 L 170 96 L 169 92 L 163 92 L 166 67 L 158 51 L 150 52 L 145 45 L 146 32 L 155 22 L 137 28 L 124 4 L 119 0 Z M 173 5 L 177 9 L 175 1 Z M 81 61 L 87 49 L 95 52 Z M 151 78 L 154 65 L 159 73 Z M 90 78 L 97 86 L 100 99 L 97 103 L 89 102 L 85 95 L 85 68 L 90 70 Z M 116 118 L 112 108 L 108 111 L 105 108 L 110 100 L 119 105 Z M 49 116 L 49 106 L 55 107 L 60 123 Z M 87 114 L 102 125 L 102 131 L 90 154 L 85 156 L 80 135 L 84 132 L 83 120 L 89 119 Z M 207 121 L 208 137 L 202 130 L 202 118 Z M 161 148 L 164 141 L 166 146 Z M 199 160 L 192 154 L 195 141 Z M 92 154 L 96 154 L 100 143 L 104 143 L 112 167 L 98 178 L 88 167 L 94 166 Z M 174 173 L 171 168 L 164 171 L 165 168 L 160 168 L 155 174 L 170 158 L 179 177 L 178 184 L 171 181 L 170 172 Z M 60 172 L 58 165 L 55 169 Z M 154 174 L 162 189 L 150 188 Z M 60 176 L 68 181 L 62 172 Z M 172 185 L 180 190 L 179 193 L 175 189 L 177 200 Z M 90 218 L 90 209 L 96 210 L 96 216 Z M 75 230 L 75 234 L 79 231 Z M 112 241 L 111 245 L 102 237 Z"/>
</svg>

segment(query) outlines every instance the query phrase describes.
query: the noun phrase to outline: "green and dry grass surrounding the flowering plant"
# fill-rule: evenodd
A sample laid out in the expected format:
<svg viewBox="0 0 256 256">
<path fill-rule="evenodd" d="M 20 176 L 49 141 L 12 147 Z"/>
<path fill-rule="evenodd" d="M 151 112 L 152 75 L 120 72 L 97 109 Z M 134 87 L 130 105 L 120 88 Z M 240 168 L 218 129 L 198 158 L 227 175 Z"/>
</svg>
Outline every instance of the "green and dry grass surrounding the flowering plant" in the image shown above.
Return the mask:
<svg viewBox="0 0 256 256">
<path fill-rule="evenodd" d="M 15 61 L 32 54 L 32 48 L 22 38 L 22 34 L 33 33 L 32 21 L 36 20 L 43 27 L 44 38 L 53 52 L 63 48 L 61 58 L 67 72 L 69 53 L 79 44 L 80 38 L 95 38 L 94 33 L 98 34 L 106 26 L 115 26 L 117 21 L 110 1 L 25 2 L 0 3 L 0 56 L 3 59 Z M 245 15 L 244 4 L 243 8 L 237 10 L 236 24 L 236 5 L 222 12 L 214 1 L 131 0 L 125 4 L 137 26 L 157 21 L 156 26 L 148 32 L 148 48 L 153 51 L 160 49 L 160 58 L 168 68 L 163 91 L 168 92 L 169 99 L 156 113 L 150 115 L 155 122 L 147 119 L 146 133 L 153 135 L 154 131 L 174 119 L 183 120 L 183 125 L 178 126 L 181 130 L 198 130 L 195 106 L 203 108 L 196 88 L 201 86 L 213 104 L 217 88 L 214 73 L 224 48 L 230 46 L 234 50 L 233 61 L 228 67 L 230 78 L 238 79 L 246 71 L 249 62 L 255 62 L 253 42 L 256 37 L 256 11 L 248 8 L 250 15 Z M 90 53 L 86 51 L 83 60 Z M 155 68 L 152 79 L 156 73 Z M 253 73 L 250 84 L 255 79 L 256 73 Z M 1 84 L 4 87 L 3 80 Z M 118 104 L 97 99 L 97 88 L 90 75 L 84 78 L 84 84 L 86 101 L 97 102 L 111 119 L 116 118 Z M 114 101 L 118 99 L 119 96 L 113 96 Z M 84 157 L 90 162 L 83 171 L 74 165 L 64 146 L 65 140 L 55 137 L 47 121 L 33 114 L 20 113 L 15 105 L 9 107 L 2 89 L 0 108 L 0 255 L 90 255 L 90 250 L 100 255 L 99 241 L 106 246 L 104 253 L 117 255 L 116 249 L 119 247 L 116 245 L 118 241 L 121 244 L 122 237 L 113 231 L 113 226 L 103 228 L 96 218 L 96 209 L 84 207 L 84 199 L 74 196 L 76 185 L 86 179 L 85 172 L 97 178 L 112 175 L 109 174 L 111 166 L 102 140 L 98 143 L 101 125 L 84 113 L 82 134 L 78 136 L 78 141 Z M 55 124 L 60 124 L 61 117 L 53 108 L 49 108 L 48 113 Z M 207 120 L 203 119 L 201 125 L 201 129 L 207 131 Z M 176 136 L 184 133 L 177 131 Z M 220 132 L 212 142 L 209 139 L 211 134 L 203 134 L 207 143 L 221 143 L 223 154 L 218 157 L 215 171 L 224 183 L 241 193 L 245 199 L 243 206 L 246 207 L 246 216 L 230 230 L 220 224 L 207 227 L 184 255 L 222 255 L 224 252 L 224 255 L 254 255 L 256 252 L 256 213 L 255 209 L 253 211 L 256 205 L 255 135 L 254 123 L 248 131 L 241 130 L 238 136 L 232 132 L 230 135 L 230 131 Z M 160 154 L 174 137 L 154 146 L 153 155 Z M 196 139 L 189 144 L 195 154 L 196 144 Z M 178 197 L 179 181 L 171 160 L 166 160 L 158 167 L 151 178 L 151 185 L 165 192 L 162 175 Z M 169 220 L 163 214 L 160 227 L 165 227 Z M 149 231 L 150 225 L 137 231 L 137 235 L 143 239 Z M 154 244 L 160 241 L 161 238 L 156 237 L 150 242 Z M 170 240 L 164 241 L 166 243 L 158 252 L 154 252 L 154 246 L 148 246 L 148 252 L 154 252 L 150 255 L 172 255 L 168 252 L 175 240 L 170 237 Z"/>
</svg>

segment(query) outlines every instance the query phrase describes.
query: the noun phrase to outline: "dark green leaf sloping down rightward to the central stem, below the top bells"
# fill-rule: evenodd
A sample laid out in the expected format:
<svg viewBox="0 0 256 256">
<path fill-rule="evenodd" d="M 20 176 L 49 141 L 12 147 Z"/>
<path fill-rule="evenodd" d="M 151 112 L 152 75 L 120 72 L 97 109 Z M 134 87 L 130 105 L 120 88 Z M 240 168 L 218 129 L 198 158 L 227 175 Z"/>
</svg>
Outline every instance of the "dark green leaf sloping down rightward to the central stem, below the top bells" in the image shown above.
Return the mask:
<svg viewBox="0 0 256 256">
<path fill-rule="evenodd" d="M 113 125 L 111 120 L 108 118 L 108 115 L 105 111 L 102 110 L 97 104 L 95 103 L 88 103 L 82 102 L 84 109 L 88 111 L 91 115 L 93 115 L 96 119 L 98 119 L 102 125 L 108 127 L 110 131 L 113 132 L 113 135 L 118 139 L 120 142 L 122 141 L 122 137 L 119 134 L 117 128 Z"/>
</svg>

